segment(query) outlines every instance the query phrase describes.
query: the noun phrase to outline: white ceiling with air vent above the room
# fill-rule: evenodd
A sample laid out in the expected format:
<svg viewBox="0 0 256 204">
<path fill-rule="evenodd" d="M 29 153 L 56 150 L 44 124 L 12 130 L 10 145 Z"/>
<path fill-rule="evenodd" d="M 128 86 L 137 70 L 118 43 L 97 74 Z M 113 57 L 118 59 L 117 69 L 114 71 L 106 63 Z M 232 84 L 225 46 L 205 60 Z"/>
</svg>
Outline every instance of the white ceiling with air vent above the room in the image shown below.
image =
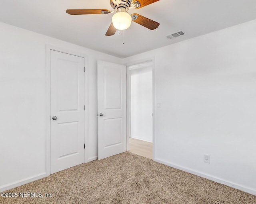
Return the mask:
<svg viewBox="0 0 256 204">
<path fill-rule="evenodd" d="M 132 22 L 123 35 L 105 36 L 113 14 L 66 14 L 66 9 L 108 9 L 109 0 L 1 0 L 0 21 L 70 43 L 128 57 L 256 19 L 255 0 L 160 0 L 129 13 L 160 23 L 151 31 Z M 185 35 L 167 39 L 182 30 Z M 243 31 L 241 31 L 243 32 Z M 244 31 L 246 32 L 246 31 Z"/>
</svg>

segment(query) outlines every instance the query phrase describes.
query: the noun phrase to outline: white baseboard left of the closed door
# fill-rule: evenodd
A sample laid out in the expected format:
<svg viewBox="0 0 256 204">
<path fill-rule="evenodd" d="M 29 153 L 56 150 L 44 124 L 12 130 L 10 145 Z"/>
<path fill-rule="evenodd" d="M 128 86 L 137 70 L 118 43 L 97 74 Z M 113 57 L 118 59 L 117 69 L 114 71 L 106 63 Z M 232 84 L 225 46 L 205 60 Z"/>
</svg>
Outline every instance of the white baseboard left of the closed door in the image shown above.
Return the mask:
<svg viewBox="0 0 256 204">
<path fill-rule="evenodd" d="M 46 172 L 44 172 L 44 173 L 40 173 L 40 174 L 32 176 L 32 177 L 28 177 L 26 179 L 21 179 L 21 180 L 18 180 L 16 182 L 12 182 L 12 183 L 0 186 L 0 192 L 4 192 L 6 190 L 10 190 L 12 188 L 15 188 L 15 187 L 18 187 L 18 186 L 30 183 L 30 182 L 38 180 L 38 179 L 42 179 L 42 178 L 47 177 L 47 176 L 48 175 L 46 174 Z"/>
</svg>

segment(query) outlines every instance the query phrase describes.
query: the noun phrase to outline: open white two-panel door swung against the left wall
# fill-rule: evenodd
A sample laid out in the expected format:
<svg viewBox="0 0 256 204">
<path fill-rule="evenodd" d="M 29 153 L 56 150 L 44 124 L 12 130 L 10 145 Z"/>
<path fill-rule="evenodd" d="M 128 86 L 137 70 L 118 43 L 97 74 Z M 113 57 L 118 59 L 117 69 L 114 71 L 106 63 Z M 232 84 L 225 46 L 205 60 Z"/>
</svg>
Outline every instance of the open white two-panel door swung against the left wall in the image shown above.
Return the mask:
<svg viewBox="0 0 256 204">
<path fill-rule="evenodd" d="M 126 66 L 98 61 L 98 159 L 126 151 Z"/>
</svg>

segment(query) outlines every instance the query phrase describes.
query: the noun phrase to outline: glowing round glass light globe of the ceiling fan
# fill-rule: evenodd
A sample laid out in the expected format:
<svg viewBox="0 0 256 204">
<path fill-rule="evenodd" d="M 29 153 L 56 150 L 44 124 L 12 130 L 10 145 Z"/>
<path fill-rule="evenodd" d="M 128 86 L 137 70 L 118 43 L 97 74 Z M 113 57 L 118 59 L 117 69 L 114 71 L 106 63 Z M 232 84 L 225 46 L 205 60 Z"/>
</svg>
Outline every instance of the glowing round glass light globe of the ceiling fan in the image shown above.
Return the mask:
<svg viewBox="0 0 256 204">
<path fill-rule="evenodd" d="M 132 17 L 127 12 L 118 12 L 112 16 L 113 26 L 118 30 L 125 30 L 131 26 Z"/>
</svg>

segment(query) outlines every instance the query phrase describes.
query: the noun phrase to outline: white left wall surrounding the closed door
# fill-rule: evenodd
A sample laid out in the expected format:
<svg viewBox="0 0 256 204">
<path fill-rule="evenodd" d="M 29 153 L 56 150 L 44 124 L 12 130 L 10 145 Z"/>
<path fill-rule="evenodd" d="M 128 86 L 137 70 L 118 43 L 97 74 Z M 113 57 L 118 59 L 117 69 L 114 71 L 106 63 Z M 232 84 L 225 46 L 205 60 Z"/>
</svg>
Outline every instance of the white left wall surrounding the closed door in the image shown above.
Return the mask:
<svg viewBox="0 0 256 204">
<path fill-rule="evenodd" d="M 88 57 L 88 159 L 97 159 L 97 60 L 121 59 L 0 23 L 0 191 L 46 175 L 46 44 Z"/>
</svg>

